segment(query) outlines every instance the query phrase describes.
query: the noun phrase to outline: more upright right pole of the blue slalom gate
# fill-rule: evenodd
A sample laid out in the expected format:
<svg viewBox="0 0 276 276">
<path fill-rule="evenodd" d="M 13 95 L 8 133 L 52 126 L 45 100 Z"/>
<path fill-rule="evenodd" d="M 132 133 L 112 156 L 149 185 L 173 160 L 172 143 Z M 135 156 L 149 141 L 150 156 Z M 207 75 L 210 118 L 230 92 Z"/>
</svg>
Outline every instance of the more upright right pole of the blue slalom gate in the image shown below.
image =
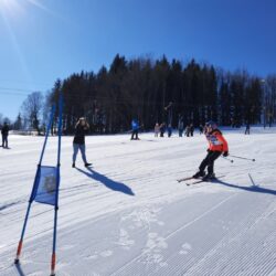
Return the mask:
<svg viewBox="0 0 276 276">
<path fill-rule="evenodd" d="M 63 97 L 60 94 L 59 99 L 59 147 L 57 147 L 57 163 L 56 163 L 56 197 L 55 197 L 55 212 L 54 212 L 54 234 L 53 234 L 53 252 L 51 261 L 51 276 L 55 275 L 55 263 L 56 263 L 56 226 L 57 226 L 57 211 L 59 211 L 59 190 L 60 190 L 60 168 L 61 168 L 61 142 L 62 142 L 62 109 L 63 109 Z"/>
</svg>

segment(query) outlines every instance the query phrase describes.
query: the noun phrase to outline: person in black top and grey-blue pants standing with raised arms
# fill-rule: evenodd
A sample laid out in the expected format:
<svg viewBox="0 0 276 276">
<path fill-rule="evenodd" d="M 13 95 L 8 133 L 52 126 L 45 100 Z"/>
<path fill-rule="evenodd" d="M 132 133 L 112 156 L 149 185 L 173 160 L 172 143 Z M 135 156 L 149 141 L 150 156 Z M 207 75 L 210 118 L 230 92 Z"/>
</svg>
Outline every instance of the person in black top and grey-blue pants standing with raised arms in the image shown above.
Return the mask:
<svg viewBox="0 0 276 276">
<path fill-rule="evenodd" d="M 86 160 L 86 155 L 85 155 L 85 134 L 87 134 L 89 129 L 89 125 L 86 121 L 85 118 L 79 118 L 76 126 L 75 126 L 75 136 L 73 140 L 73 164 L 72 168 L 75 168 L 75 162 L 76 162 L 76 156 L 78 152 L 78 149 L 82 152 L 82 158 L 84 161 L 85 167 L 89 167 L 92 163 L 88 163 Z"/>
</svg>

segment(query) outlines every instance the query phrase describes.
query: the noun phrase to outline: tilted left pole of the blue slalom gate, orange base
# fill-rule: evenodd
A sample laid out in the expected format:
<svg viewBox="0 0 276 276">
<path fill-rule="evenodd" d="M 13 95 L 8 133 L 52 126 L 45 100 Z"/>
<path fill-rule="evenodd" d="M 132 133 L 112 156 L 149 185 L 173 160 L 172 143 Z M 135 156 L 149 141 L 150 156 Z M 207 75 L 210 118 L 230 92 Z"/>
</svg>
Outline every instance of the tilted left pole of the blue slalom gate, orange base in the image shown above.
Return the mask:
<svg viewBox="0 0 276 276">
<path fill-rule="evenodd" d="M 36 190 L 36 183 L 38 183 L 38 180 L 40 178 L 40 167 L 41 167 L 41 162 L 42 162 L 42 159 L 43 159 L 43 156 L 44 156 L 49 132 L 50 132 L 50 129 L 51 129 L 51 126 L 52 126 L 52 123 L 53 123 L 54 113 L 55 113 L 55 105 L 53 105 L 53 107 L 52 107 L 50 121 L 49 121 L 49 125 L 47 125 L 46 135 L 45 135 L 44 144 L 43 144 L 43 148 L 42 148 L 42 151 L 41 151 L 41 156 L 40 156 L 40 162 L 38 164 L 35 178 L 34 178 L 34 182 L 33 182 L 33 188 L 32 188 L 32 193 L 31 193 L 28 210 L 26 210 L 26 213 L 25 213 L 25 219 L 24 219 L 24 224 L 23 224 L 23 229 L 22 229 L 22 232 L 21 232 L 21 237 L 20 237 L 20 241 L 19 241 L 19 244 L 18 244 L 18 251 L 17 251 L 17 257 L 14 259 L 14 264 L 19 263 L 20 255 L 21 255 L 21 250 L 23 247 L 23 240 L 24 240 L 24 234 L 25 234 L 25 229 L 26 229 L 26 222 L 28 222 L 31 205 L 32 205 L 32 202 L 33 202 L 33 197 L 34 197 L 34 193 L 35 193 L 35 190 Z"/>
</svg>

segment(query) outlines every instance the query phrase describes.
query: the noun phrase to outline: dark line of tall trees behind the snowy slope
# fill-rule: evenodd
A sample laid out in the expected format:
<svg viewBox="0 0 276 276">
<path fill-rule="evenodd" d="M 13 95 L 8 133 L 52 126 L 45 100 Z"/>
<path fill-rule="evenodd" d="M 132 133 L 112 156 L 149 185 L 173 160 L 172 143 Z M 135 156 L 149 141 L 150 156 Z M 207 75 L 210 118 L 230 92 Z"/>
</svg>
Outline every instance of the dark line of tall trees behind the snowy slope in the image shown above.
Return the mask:
<svg viewBox="0 0 276 276">
<path fill-rule="evenodd" d="M 164 107 L 170 103 L 172 127 L 180 119 L 195 126 L 210 119 L 225 126 L 272 124 L 276 116 L 276 75 L 262 79 L 246 71 L 227 72 L 194 60 L 185 64 L 166 56 L 128 61 L 117 54 L 109 68 L 57 79 L 45 99 L 41 93 L 29 95 L 15 124 L 20 120 L 39 131 L 45 128 L 60 93 L 65 134 L 74 131 L 79 117 L 86 117 L 92 132 L 129 130 L 132 118 L 149 130 L 156 123 L 168 124 Z"/>
</svg>

